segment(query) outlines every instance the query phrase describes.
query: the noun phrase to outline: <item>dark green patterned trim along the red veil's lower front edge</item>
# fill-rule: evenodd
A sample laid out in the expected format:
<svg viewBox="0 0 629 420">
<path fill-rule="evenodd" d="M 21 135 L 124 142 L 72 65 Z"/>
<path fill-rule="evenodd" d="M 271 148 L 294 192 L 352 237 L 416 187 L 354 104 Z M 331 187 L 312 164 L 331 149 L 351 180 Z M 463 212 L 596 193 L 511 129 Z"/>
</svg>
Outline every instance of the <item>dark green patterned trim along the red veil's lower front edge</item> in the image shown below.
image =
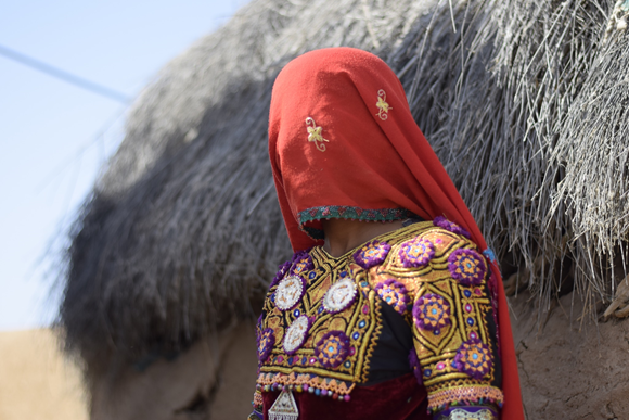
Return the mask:
<svg viewBox="0 0 629 420">
<path fill-rule="evenodd" d="M 304 226 L 309 221 L 321 219 L 350 219 L 362 221 L 394 221 L 415 217 L 412 212 L 406 208 L 377 208 L 364 209 L 346 205 L 326 205 L 311 207 L 297 213 L 297 224 L 299 229 L 313 240 L 323 239 L 323 231 L 309 226 Z"/>
</svg>

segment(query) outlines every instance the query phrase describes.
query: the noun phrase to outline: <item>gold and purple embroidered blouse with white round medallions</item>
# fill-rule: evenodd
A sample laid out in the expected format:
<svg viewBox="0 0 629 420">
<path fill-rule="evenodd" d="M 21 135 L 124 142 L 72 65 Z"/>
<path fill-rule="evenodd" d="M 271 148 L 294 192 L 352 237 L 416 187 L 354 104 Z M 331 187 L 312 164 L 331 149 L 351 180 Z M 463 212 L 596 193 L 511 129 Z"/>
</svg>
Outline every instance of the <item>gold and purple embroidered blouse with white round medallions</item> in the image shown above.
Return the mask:
<svg viewBox="0 0 629 420">
<path fill-rule="evenodd" d="M 437 218 L 337 258 L 313 247 L 280 266 L 257 326 L 249 419 L 314 418 L 305 408 L 322 406 L 306 402 L 317 396 L 337 400 L 323 406 L 362 410 L 357 400 L 375 390 L 385 402 L 416 397 L 396 418 L 427 419 L 427 408 L 439 420 L 498 419 L 495 291 L 467 237 Z M 400 404 L 384 404 L 385 417 L 394 418 L 390 407 Z"/>
</svg>

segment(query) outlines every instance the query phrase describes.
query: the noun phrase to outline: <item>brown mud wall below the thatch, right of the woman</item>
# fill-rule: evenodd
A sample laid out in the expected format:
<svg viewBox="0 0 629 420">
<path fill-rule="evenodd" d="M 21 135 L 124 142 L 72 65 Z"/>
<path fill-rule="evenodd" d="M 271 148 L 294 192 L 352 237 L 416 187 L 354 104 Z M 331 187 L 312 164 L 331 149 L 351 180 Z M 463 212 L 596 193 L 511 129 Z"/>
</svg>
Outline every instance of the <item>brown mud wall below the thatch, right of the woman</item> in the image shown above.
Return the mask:
<svg viewBox="0 0 629 420">
<path fill-rule="evenodd" d="M 629 318 L 581 323 L 568 294 L 540 319 L 529 298 L 510 298 L 527 419 L 629 419 Z"/>
</svg>

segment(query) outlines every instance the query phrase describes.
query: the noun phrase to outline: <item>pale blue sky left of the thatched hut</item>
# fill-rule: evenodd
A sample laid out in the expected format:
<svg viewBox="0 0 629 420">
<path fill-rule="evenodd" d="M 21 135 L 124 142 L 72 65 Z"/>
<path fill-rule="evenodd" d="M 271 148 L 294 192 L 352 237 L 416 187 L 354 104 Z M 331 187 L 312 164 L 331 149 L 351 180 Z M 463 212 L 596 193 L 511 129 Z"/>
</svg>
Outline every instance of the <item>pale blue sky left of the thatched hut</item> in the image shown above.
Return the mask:
<svg viewBox="0 0 629 420">
<path fill-rule="evenodd" d="M 134 97 L 244 3 L 7 1 L 0 46 Z M 47 268 L 119 144 L 126 110 L 0 55 L 0 330 L 53 318 L 55 272 Z"/>
</svg>

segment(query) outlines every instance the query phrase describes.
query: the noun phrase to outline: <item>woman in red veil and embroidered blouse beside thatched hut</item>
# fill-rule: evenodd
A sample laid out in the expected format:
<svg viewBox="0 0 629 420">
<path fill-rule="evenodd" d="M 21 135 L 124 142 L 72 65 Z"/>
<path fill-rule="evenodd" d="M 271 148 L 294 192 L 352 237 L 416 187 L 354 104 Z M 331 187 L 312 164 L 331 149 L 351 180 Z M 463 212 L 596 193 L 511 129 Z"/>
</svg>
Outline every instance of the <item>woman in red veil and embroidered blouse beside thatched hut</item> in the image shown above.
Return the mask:
<svg viewBox="0 0 629 420">
<path fill-rule="evenodd" d="M 523 419 L 500 272 L 391 69 L 349 48 L 288 63 L 269 153 L 296 253 L 251 419 Z"/>
</svg>

